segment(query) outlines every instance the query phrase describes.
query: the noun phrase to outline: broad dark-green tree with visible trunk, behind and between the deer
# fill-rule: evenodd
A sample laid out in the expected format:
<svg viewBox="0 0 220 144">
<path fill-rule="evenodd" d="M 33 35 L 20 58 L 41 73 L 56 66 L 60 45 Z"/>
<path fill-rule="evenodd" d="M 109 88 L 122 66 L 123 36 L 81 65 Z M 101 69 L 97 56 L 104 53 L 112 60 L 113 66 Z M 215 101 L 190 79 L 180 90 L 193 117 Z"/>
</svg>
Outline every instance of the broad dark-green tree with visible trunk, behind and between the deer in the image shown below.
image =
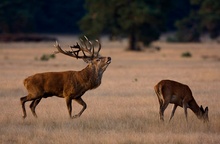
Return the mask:
<svg viewBox="0 0 220 144">
<path fill-rule="evenodd" d="M 86 0 L 79 25 L 90 37 L 128 37 L 129 49 L 140 50 L 138 42 L 149 45 L 165 30 L 169 5 L 167 0 Z"/>
</svg>

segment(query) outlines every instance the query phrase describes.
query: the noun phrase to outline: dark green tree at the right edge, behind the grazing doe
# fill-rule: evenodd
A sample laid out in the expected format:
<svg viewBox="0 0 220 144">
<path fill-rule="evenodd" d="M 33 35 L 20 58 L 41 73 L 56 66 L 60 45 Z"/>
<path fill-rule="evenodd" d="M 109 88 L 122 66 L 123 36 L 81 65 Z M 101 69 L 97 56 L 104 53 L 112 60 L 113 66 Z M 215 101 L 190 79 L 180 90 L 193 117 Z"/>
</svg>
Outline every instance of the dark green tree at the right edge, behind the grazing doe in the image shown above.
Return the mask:
<svg viewBox="0 0 220 144">
<path fill-rule="evenodd" d="M 220 1 L 219 0 L 190 0 L 189 16 L 176 22 L 177 41 L 198 42 L 205 32 L 212 39 L 220 34 Z"/>
</svg>

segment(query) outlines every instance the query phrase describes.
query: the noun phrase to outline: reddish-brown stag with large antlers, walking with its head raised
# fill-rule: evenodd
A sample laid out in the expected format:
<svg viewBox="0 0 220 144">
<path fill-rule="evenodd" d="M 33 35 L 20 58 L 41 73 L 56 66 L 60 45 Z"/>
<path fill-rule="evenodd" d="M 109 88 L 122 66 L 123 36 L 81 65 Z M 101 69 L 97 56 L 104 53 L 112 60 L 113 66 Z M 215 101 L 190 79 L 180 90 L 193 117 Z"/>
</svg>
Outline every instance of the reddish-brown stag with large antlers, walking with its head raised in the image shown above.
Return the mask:
<svg viewBox="0 0 220 144">
<path fill-rule="evenodd" d="M 32 101 L 30 109 L 32 114 L 37 117 L 35 108 L 42 98 L 57 96 L 65 98 L 70 118 L 80 117 L 87 105 L 81 98 L 82 95 L 90 89 L 95 89 L 101 84 L 102 75 L 108 65 L 111 63 L 111 57 L 99 56 L 101 44 L 98 40 L 98 51 L 94 51 L 94 45 L 86 37 L 86 41 L 80 39 L 80 44 L 70 46 L 71 51 L 62 50 L 56 42 L 56 53 L 83 59 L 88 63 L 87 67 L 81 71 L 64 71 L 64 72 L 45 72 L 29 76 L 24 80 L 24 86 L 28 95 L 21 97 L 23 118 L 27 116 L 25 103 Z M 83 106 L 82 110 L 74 116 L 72 113 L 72 100 L 75 100 Z"/>
</svg>

